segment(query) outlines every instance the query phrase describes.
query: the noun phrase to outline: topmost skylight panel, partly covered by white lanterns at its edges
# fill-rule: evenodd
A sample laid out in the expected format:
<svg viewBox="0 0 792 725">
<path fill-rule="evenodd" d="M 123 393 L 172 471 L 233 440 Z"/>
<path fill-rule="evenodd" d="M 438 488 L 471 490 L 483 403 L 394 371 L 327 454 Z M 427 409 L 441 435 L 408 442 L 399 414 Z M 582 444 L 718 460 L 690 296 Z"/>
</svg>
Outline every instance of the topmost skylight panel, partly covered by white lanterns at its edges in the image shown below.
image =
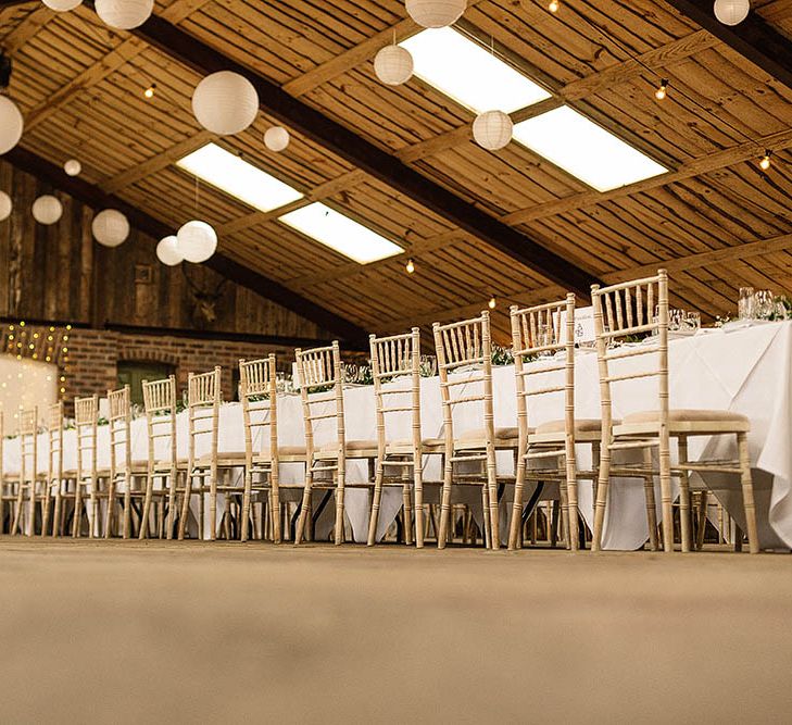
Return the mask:
<svg viewBox="0 0 792 725">
<path fill-rule="evenodd" d="M 550 98 L 541 86 L 450 27 L 422 30 L 400 43 L 415 75 L 476 113 L 511 113 Z"/>
</svg>

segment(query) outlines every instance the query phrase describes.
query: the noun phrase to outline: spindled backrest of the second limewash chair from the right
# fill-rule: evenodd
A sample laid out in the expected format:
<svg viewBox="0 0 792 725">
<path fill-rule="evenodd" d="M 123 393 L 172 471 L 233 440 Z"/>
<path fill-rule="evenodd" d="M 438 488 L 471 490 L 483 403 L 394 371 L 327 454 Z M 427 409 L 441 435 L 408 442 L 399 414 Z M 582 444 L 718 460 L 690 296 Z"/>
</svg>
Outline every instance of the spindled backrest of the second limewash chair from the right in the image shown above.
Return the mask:
<svg viewBox="0 0 792 725">
<path fill-rule="evenodd" d="M 575 434 L 575 295 L 565 300 L 530 308 L 510 308 L 514 376 L 517 388 L 517 424 L 520 438 L 528 435 L 529 399 L 564 393 L 564 422 L 567 435 Z M 543 365 L 526 365 L 536 354 L 564 351 L 564 359 Z M 564 383 L 548 385 L 548 374 L 564 371 Z"/>
</svg>

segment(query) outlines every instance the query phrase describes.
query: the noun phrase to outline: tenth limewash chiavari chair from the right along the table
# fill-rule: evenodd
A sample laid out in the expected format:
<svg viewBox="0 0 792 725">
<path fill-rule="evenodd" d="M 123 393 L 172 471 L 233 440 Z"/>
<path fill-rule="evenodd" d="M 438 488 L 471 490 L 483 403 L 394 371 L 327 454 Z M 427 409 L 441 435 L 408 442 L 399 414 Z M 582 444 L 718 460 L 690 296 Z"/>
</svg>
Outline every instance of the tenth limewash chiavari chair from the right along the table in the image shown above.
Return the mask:
<svg viewBox="0 0 792 725">
<path fill-rule="evenodd" d="M 106 478 L 106 471 L 99 471 L 97 438 L 99 426 L 99 396 L 74 399 L 74 420 L 77 433 L 77 472 L 74 490 L 74 521 L 72 536 L 81 536 L 83 508 L 86 489 L 90 488 L 88 507 L 88 536 L 99 536 L 99 482 Z"/>
</svg>

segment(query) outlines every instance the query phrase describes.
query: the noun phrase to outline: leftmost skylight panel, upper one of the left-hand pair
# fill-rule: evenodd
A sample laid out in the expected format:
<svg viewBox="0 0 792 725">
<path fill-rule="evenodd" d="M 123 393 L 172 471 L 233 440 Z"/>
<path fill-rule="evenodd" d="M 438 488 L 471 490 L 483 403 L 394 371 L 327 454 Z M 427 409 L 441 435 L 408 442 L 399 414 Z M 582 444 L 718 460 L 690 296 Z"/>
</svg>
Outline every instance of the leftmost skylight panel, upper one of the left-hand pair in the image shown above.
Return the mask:
<svg viewBox="0 0 792 725">
<path fill-rule="evenodd" d="M 176 165 L 262 212 L 278 209 L 303 196 L 215 143 L 201 147 Z"/>
</svg>

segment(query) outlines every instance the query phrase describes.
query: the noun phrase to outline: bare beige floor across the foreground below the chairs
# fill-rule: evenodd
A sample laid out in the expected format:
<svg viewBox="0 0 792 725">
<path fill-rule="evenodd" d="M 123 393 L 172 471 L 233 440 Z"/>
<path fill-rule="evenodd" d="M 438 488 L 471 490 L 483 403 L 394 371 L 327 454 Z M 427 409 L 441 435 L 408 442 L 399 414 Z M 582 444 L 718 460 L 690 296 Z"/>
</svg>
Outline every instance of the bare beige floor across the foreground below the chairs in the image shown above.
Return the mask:
<svg viewBox="0 0 792 725">
<path fill-rule="evenodd" d="M 792 557 L 0 538 L 0 720 L 788 723 Z"/>
</svg>

